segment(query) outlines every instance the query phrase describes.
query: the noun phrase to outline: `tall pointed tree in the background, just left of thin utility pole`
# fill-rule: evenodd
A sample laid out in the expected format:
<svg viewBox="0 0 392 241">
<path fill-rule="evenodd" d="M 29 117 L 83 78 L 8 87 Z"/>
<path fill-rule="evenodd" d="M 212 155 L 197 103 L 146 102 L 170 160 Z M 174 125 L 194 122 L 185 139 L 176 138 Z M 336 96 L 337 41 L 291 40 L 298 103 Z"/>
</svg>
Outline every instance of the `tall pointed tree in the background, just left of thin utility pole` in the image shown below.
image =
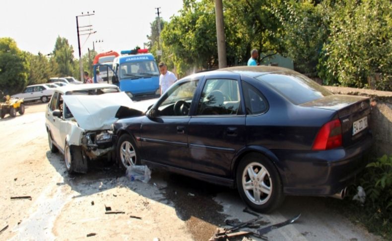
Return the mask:
<svg viewBox="0 0 392 241">
<path fill-rule="evenodd" d="M 78 65 L 75 63 L 77 61 L 73 57 L 73 47 L 69 45 L 66 38 L 57 37 L 53 58 L 58 65 L 58 74 L 60 76 L 73 76 L 78 73 L 78 70 L 76 70 Z"/>
</svg>

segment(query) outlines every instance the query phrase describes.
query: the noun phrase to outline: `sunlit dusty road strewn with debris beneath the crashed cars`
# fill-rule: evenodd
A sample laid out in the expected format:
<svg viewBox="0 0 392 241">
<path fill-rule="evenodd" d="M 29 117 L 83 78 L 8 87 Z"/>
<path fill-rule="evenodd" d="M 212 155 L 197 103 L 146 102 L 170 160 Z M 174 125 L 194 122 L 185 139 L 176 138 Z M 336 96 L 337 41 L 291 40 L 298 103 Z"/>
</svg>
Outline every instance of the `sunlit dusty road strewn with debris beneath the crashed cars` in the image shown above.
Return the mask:
<svg viewBox="0 0 392 241">
<path fill-rule="evenodd" d="M 68 175 L 63 156 L 49 151 L 45 107 L 28 104 L 23 116 L 0 120 L 0 230 L 8 225 L 0 240 L 204 241 L 224 227 L 226 219 L 255 218 L 243 212 L 236 190 L 165 171 L 152 170 L 151 180 L 142 183 L 101 160 L 92 163 L 87 174 Z M 265 239 L 381 240 L 331 209 L 330 201 L 286 197 L 277 211 L 261 214 L 261 227 L 302 215 Z M 105 215 L 105 206 L 124 213 Z M 246 240 L 252 239 L 260 240 Z"/>
</svg>

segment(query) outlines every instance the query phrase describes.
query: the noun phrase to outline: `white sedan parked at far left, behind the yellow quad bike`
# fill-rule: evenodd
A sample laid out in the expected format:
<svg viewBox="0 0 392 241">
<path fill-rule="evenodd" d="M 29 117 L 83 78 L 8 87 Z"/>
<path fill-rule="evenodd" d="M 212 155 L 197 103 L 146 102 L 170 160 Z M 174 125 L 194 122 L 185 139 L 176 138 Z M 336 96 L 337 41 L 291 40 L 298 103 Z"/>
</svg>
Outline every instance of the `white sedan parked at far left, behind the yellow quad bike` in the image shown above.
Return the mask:
<svg viewBox="0 0 392 241">
<path fill-rule="evenodd" d="M 27 86 L 22 93 L 14 94 L 13 98 L 23 98 L 25 102 L 41 100 L 48 102 L 57 86 L 53 84 L 33 84 Z"/>
</svg>

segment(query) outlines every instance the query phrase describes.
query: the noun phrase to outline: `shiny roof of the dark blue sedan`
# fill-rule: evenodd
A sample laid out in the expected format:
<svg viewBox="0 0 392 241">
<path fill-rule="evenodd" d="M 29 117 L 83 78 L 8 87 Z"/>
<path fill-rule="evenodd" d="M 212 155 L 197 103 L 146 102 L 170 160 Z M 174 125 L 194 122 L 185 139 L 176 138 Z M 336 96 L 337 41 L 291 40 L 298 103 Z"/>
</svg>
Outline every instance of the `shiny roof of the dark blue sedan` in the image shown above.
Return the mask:
<svg viewBox="0 0 392 241">
<path fill-rule="evenodd" d="M 237 66 L 237 67 L 229 67 L 229 68 L 223 68 L 223 69 L 218 69 L 213 71 L 204 71 L 204 72 L 196 73 L 190 76 L 190 78 L 197 78 L 199 76 L 209 76 L 209 75 L 216 75 L 216 74 L 230 74 L 230 73 L 245 75 L 251 78 L 259 77 L 266 74 L 277 74 L 277 73 L 282 75 L 298 74 L 297 72 L 292 71 L 290 69 L 275 67 L 275 66 Z"/>
</svg>

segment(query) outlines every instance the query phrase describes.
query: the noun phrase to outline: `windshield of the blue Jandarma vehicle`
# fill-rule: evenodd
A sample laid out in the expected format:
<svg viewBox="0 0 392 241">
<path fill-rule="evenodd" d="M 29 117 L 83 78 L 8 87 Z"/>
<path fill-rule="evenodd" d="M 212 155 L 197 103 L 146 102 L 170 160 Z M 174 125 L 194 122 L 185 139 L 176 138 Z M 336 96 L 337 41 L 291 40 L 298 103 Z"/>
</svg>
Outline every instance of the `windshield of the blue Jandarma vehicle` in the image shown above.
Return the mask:
<svg viewBox="0 0 392 241">
<path fill-rule="evenodd" d="M 120 66 L 120 80 L 159 76 L 155 61 L 124 63 Z"/>
</svg>

